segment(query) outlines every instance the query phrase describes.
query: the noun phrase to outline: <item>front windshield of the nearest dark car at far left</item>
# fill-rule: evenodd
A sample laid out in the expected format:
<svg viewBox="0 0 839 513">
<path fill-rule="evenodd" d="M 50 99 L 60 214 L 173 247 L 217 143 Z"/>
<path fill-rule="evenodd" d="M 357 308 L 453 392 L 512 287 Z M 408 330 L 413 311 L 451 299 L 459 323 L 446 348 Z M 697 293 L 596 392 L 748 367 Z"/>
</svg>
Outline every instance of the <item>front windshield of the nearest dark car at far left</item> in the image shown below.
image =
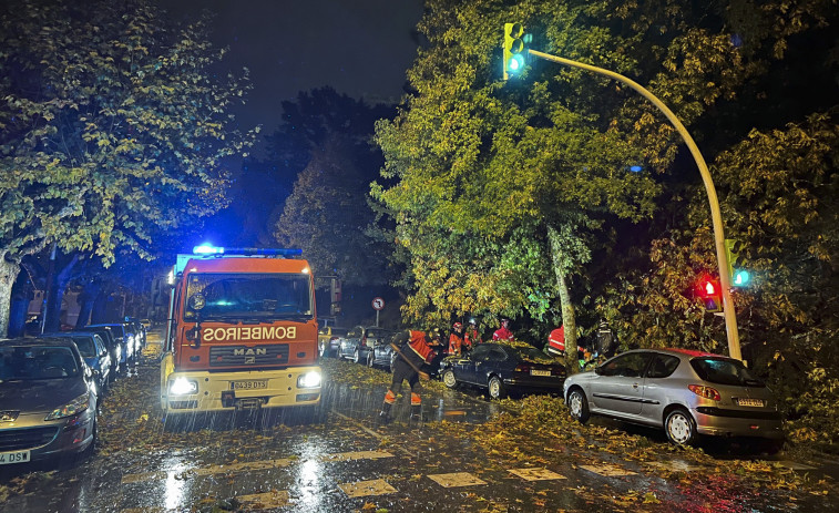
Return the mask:
<svg viewBox="0 0 839 513">
<path fill-rule="evenodd" d="M 0 347 L 0 380 L 73 378 L 79 366 L 66 347 Z"/>
</svg>

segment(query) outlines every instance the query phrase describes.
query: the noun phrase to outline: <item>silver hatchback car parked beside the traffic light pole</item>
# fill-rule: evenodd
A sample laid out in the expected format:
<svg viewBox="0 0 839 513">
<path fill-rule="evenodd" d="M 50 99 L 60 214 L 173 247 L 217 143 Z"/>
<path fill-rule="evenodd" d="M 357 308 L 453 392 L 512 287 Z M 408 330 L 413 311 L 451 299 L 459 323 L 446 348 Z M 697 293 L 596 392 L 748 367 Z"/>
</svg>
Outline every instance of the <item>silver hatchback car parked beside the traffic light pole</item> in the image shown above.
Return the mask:
<svg viewBox="0 0 839 513">
<path fill-rule="evenodd" d="M 780 445 L 777 401 L 738 360 L 683 349 L 636 349 L 570 376 L 571 417 L 590 414 L 664 428 L 675 444 L 698 434 L 756 437 Z"/>
</svg>

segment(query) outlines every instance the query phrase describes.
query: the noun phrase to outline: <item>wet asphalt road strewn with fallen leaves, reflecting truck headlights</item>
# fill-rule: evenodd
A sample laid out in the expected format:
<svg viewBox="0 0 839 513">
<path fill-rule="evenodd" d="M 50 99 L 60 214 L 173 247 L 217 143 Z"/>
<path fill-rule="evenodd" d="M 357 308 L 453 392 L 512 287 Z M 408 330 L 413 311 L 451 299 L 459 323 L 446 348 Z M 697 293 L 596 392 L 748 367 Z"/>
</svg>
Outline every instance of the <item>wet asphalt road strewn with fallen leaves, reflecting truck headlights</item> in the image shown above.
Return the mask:
<svg viewBox="0 0 839 513">
<path fill-rule="evenodd" d="M 341 366 L 355 363 L 329 362 L 325 369 L 337 372 Z M 493 454 L 470 433 L 502 406 L 472 390 L 427 387 L 423 422 L 410 422 L 400 400 L 395 421 L 379 425 L 386 386 L 330 380 L 314 418 L 241 412 L 197 417 L 165 430 L 153 400 L 157 391 L 144 390 L 158 382 L 153 358 L 136 371 L 105 398 L 100 444 L 90 459 L 0 469 L 0 511 L 718 513 L 832 512 L 839 504 L 835 486 L 827 493 L 830 479 L 798 496 L 746 494 L 726 478 L 692 484 L 704 469 L 677 454 L 623 461 L 596 440 L 583 447 L 548 443 L 514 458 Z M 640 434 L 661 442 L 653 431 Z M 725 461 L 736 451 L 728 447 L 715 458 Z"/>
</svg>

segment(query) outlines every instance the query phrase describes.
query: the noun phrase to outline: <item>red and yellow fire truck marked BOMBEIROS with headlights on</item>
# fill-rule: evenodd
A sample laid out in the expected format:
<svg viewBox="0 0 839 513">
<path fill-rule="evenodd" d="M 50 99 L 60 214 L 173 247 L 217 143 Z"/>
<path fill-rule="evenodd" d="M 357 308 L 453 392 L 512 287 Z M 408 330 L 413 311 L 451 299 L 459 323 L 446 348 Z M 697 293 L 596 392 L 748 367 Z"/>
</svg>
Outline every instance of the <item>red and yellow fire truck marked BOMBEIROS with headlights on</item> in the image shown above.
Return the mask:
<svg viewBox="0 0 839 513">
<path fill-rule="evenodd" d="M 198 246 L 177 256 L 161 362 L 167 417 L 318 404 L 315 288 L 299 254 Z"/>
</svg>

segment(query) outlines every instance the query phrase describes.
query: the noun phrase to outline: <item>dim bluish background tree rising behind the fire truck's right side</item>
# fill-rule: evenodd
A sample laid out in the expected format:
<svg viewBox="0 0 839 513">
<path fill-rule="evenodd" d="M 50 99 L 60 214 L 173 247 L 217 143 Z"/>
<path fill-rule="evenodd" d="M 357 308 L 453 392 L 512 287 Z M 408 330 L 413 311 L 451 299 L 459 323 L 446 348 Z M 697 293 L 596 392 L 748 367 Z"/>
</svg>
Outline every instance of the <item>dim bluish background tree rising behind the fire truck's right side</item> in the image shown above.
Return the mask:
<svg viewBox="0 0 839 513">
<path fill-rule="evenodd" d="M 303 248 L 316 276 L 337 274 L 350 286 L 387 284 L 388 245 L 368 233 L 377 217 L 367 192 L 381 166 L 370 144 L 374 121 L 390 111 L 329 88 L 300 93 L 283 107 L 284 123 L 269 137 L 272 153 L 286 155 L 289 171 L 305 167 L 276 223 L 276 238 Z"/>
</svg>

